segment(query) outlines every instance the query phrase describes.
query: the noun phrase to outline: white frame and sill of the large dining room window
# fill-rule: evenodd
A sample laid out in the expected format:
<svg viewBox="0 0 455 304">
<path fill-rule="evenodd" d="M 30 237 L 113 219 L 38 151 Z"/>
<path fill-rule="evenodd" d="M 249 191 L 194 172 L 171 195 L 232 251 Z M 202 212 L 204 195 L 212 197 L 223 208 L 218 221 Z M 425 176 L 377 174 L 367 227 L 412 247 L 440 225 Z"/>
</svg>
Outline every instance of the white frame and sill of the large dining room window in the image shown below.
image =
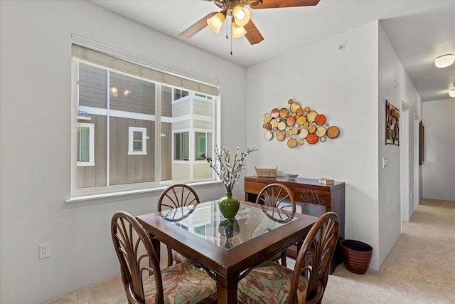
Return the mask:
<svg viewBox="0 0 455 304">
<path fill-rule="evenodd" d="M 115 48 L 114 46 L 108 46 L 104 43 L 100 43 L 98 41 L 92 41 L 88 38 L 84 38 L 81 36 L 77 36 L 73 34 L 72 37 L 72 43 L 90 48 L 95 51 L 100 51 L 103 53 L 107 53 L 109 56 L 114 56 L 116 58 L 121 58 L 126 61 L 130 61 L 132 63 L 135 63 L 137 65 L 144 65 L 149 68 L 156 68 L 156 70 L 163 70 L 165 72 L 168 72 L 173 75 L 180 75 L 182 78 L 188 78 L 192 79 L 194 81 L 200 82 L 200 83 L 205 83 L 207 85 L 211 85 L 213 87 L 218 88 L 218 95 L 207 95 L 209 98 L 211 98 L 211 101 L 213 103 L 213 108 L 212 108 L 212 116 L 211 119 L 213 120 L 212 122 L 212 134 L 216 134 L 216 138 L 213 137 L 213 145 L 215 144 L 219 145 L 219 134 L 220 134 L 220 125 L 218 123 L 219 117 L 220 117 L 220 95 L 219 95 L 219 88 L 220 88 L 220 80 L 215 80 L 214 78 L 209 78 L 204 75 L 200 75 L 198 73 L 193 73 L 188 70 L 183 70 L 182 68 L 174 67 L 172 65 L 168 65 L 166 63 L 162 63 L 159 61 L 153 61 L 150 58 L 145 58 L 143 56 L 137 55 L 137 53 L 129 53 L 128 51 L 124 51 L 120 48 Z M 108 198 L 112 196 L 119 196 L 119 195 L 136 195 L 136 194 L 141 194 L 141 193 L 146 193 L 146 192 L 154 192 L 154 191 L 159 191 L 159 189 L 163 189 L 163 187 L 166 187 L 166 185 L 171 184 L 172 181 L 161 181 L 157 179 L 155 182 L 142 182 L 142 183 L 136 183 L 136 184 L 119 184 L 119 185 L 110 185 L 109 187 L 92 187 L 92 188 L 77 188 L 76 185 L 76 180 L 77 180 L 77 150 L 76 150 L 76 145 L 77 141 L 74 140 L 75 136 L 77 136 L 77 103 L 78 103 L 78 80 L 79 80 L 79 75 L 78 75 L 78 68 L 77 65 L 78 63 L 87 63 L 90 65 L 95 65 L 100 68 L 103 68 L 105 70 L 109 70 L 115 73 L 122 73 L 119 70 L 114 70 L 112 68 L 107 68 L 106 66 L 102 65 L 97 65 L 96 63 L 92 63 L 89 61 L 85 61 L 81 58 L 75 58 L 74 56 L 71 56 L 71 79 L 72 79 L 72 85 L 71 85 L 71 100 L 72 100 L 72 115 L 71 115 L 71 134 L 72 134 L 72 140 L 71 140 L 71 187 L 70 187 L 70 198 L 65 200 L 68 203 L 71 202 L 80 202 L 80 201 L 86 201 L 86 200 L 92 200 L 92 199 L 103 199 L 103 198 Z M 129 74 L 126 74 L 129 75 Z M 129 75 L 131 76 L 131 75 Z M 178 76 L 177 76 L 178 77 Z M 144 79 L 137 77 L 141 80 L 146 80 L 150 81 L 151 83 L 158 83 L 154 80 L 149 80 L 149 79 Z M 178 88 L 178 87 L 173 87 L 173 85 L 167 85 L 166 83 L 158 83 L 159 85 L 165 85 L 171 88 L 176 88 L 180 90 L 188 90 L 186 88 Z M 190 90 L 191 92 L 191 90 Z M 198 93 L 198 92 L 195 92 Z M 156 90 L 156 94 L 159 96 L 161 94 L 160 90 Z M 156 109 L 159 111 L 159 107 Z M 158 122 L 158 121 L 156 121 Z M 161 120 L 161 122 L 165 122 L 165 120 Z M 166 121 L 167 122 L 167 121 Z M 160 134 L 160 127 L 159 124 L 156 125 L 156 138 L 158 138 Z M 94 138 L 94 137 L 92 137 Z M 152 145 L 155 145 L 156 149 L 156 174 L 159 176 L 159 170 L 160 170 L 160 164 L 159 164 L 159 151 L 161 151 L 161 146 L 157 145 L 156 143 L 152 143 Z M 94 145 L 93 145 L 94 146 Z M 107 164 L 109 167 L 109 164 Z M 107 177 L 109 177 L 109 173 L 107 173 Z M 188 184 L 211 184 L 211 183 L 218 183 L 218 178 L 215 177 L 214 174 L 212 174 L 212 177 L 210 179 L 205 179 L 205 180 L 190 180 L 187 183 Z M 90 203 L 88 203 L 90 204 Z"/>
</svg>

